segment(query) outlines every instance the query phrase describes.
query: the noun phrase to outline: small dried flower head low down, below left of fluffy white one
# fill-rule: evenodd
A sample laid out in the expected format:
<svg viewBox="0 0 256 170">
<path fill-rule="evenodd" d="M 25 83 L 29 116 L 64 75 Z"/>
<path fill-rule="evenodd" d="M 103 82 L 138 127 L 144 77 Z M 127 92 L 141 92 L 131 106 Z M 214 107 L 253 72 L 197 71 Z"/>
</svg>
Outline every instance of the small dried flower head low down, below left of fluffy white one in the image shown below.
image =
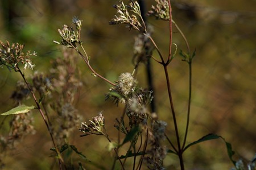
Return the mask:
<svg viewBox="0 0 256 170">
<path fill-rule="evenodd" d="M 104 135 L 104 127 L 105 127 L 105 121 L 104 121 L 104 116 L 102 112 L 98 114 L 97 117 L 92 118 L 92 120 L 89 120 L 89 125 L 86 125 L 86 122 L 81 123 L 81 127 L 79 130 L 81 132 L 84 132 L 85 135 L 90 135 L 90 134 L 97 134 L 97 135 Z"/>
</svg>

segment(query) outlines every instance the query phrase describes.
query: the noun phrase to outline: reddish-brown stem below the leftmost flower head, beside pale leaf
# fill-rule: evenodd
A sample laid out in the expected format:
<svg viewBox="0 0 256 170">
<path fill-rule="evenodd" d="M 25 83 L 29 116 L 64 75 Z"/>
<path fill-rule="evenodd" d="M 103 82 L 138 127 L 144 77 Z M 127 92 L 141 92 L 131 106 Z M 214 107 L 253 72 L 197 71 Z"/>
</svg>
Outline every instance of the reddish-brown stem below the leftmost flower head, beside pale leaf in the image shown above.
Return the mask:
<svg viewBox="0 0 256 170">
<path fill-rule="evenodd" d="M 22 73 L 22 71 L 20 71 L 19 68 L 18 68 L 18 72 L 22 75 L 22 78 L 23 78 L 24 82 L 26 83 L 27 88 L 30 90 L 30 93 L 31 93 L 31 95 L 32 95 L 32 97 L 33 97 L 33 99 L 34 99 L 34 101 L 35 101 L 35 103 L 36 103 L 36 106 L 38 107 L 38 110 L 39 110 L 40 114 L 42 115 L 42 118 L 43 118 L 43 120 L 44 120 L 44 123 L 46 124 L 47 130 L 48 130 L 48 132 L 49 132 L 49 134 L 50 134 L 50 136 L 51 136 L 53 146 L 55 147 L 56 152 L 57 152 L 57 155 L 58 155 L 59 167 L 60 167 L 60 169 L 62 169 L 62 168 L 61 168 L 61 162 L 64 163 L 64 160 L 63 160 L 63 158 L 62 158 L 61 155 L 60 155 L 59 148 L 57 148 L 57 146 L 56 146 L 56 144 L 55 144 L 55 141 L 54 141 L 53 135 L 52 135 L 52 130 L 51 130 L 51 128 L 49 127 L 49 125 L 48 125 L 48 123 L 47 123 L 47 121 L 46 121 L 46 117 L 44 116 L 44 113 L 43 113 L 42 109 L 40 108 L 39 102 L 38 102 L 38 100 L 36 99 L 33 90 L 30 88 L 30 85 L 28 85 L 28 82 L 27 82 L 27 80 L 26 80 L 24 74 Z"/>
</svg>

